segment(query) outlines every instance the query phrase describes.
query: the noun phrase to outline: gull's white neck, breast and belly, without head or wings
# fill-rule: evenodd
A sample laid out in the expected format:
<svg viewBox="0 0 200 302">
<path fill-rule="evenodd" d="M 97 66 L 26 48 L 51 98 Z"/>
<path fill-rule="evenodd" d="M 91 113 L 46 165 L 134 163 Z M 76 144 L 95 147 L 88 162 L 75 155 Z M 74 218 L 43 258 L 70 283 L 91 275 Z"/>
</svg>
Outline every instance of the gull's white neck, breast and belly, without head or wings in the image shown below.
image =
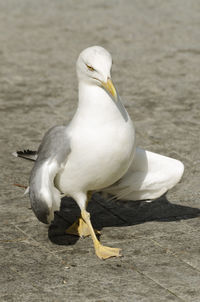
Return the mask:
<svg viewBox="0 0 200 302">
<path fill-rule="evenodd" d="M 133 123 L 104 89 L 79 85 L 78 109 L 67 133 L 71 152 L 55 181 L 64 194 L 77 199 L 81 192 L 110 186 L 128 170 L 135 150 Z"/>
</svg>

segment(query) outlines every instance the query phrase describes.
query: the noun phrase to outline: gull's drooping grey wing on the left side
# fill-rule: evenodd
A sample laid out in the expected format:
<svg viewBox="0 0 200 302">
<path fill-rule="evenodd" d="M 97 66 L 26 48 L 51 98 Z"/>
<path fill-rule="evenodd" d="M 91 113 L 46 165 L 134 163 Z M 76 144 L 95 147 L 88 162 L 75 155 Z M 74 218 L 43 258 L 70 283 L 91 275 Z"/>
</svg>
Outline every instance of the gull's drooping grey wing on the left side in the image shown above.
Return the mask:
<svg viewBox="0 0 200 302">
<path fill-rule="evenodd" d="M 64 168 L 70 153 L 67 127 L 56 126 L 44 136 L 31 171 L 29 196 L 36 217 L 50 223 L 59 210 L 61 193 L 54 185 L 56 175 Z"/>
</svg>

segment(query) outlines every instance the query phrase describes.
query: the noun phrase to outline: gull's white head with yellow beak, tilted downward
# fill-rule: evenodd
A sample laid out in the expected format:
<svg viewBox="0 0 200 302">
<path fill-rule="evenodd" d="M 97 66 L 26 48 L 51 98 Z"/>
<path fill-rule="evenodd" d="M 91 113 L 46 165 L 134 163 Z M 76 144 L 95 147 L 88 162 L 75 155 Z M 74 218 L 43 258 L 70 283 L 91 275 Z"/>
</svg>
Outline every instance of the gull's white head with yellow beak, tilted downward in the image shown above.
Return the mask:
<svg viewBox="0 0 200 302">
<path fill-rule="evenodd" d="M 98 85 L 117 101 L 117 92 L 111 80 L 112 57 L 101 46 L 84 49 L 77 60 L 76 71 L 79 81 Z"/>
</svg>

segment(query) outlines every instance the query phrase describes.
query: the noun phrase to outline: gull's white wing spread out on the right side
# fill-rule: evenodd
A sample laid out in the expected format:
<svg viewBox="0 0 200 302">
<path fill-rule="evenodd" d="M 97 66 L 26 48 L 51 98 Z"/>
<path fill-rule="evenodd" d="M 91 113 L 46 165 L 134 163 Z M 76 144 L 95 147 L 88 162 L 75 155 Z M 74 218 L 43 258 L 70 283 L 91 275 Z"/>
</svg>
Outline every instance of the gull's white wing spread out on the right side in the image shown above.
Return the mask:
<svg viewBox="0 0 200 302">
<path fill-rule="evenodd" d="M 174 187 L 183 172 L 184 165 L 179 160 L 136 148 L 129 170 L 103 192 L 124 200 L 152 200 Z"/>
</svg>

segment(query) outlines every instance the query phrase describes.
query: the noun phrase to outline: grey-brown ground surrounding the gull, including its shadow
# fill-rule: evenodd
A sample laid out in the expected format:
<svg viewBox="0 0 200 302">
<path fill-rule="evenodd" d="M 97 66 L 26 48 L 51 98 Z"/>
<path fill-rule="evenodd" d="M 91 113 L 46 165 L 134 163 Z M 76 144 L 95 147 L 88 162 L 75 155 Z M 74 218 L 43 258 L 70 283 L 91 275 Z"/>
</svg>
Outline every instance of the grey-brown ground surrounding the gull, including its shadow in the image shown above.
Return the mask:
<svg viewBox="0 0 200 302">
<path fill-rule="evenodd" d="M 200 2 L 198 0 L 0 1 L 0 301 L 200 301 Z M 135 122 L 137 144 L 181 160 L 185 174 L 151 204 L 90 206 L 101 241 L 123 258 L 98 260 L 90 238 L 64 235 L 78 215 L 65 200 L 49 228 L 13 183 L 77 105 L 79 52 L 101 45 Z"/>
</svg>

